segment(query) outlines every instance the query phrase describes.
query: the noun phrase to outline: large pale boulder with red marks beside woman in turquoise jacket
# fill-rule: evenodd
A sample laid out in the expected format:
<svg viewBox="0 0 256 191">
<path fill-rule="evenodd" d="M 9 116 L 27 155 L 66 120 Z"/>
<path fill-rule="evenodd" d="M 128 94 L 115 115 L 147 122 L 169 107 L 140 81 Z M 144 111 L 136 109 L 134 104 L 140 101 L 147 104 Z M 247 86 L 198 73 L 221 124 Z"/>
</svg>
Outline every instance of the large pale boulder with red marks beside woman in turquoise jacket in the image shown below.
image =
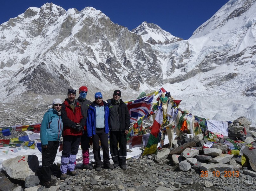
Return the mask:
<svg viewBox="0 0 256 191">
<path fill-rule="evenodd" d="M 25 181 L 27 176 L 35 175 L 39 161 L 36 155 L 22 155 L 4 160 L 2 166 L 11 178 Z"/>
</svg>

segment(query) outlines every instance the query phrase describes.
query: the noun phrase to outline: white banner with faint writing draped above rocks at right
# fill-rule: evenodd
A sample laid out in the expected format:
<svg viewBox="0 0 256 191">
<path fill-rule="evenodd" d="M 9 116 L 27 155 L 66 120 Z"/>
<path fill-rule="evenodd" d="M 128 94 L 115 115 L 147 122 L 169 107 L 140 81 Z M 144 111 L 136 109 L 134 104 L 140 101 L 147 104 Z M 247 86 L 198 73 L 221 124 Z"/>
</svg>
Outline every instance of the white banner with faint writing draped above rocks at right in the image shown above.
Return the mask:
<svg viewBox="0 0 256 191">
<path fill-rule="evenodd" d="M 206 120 L 207 128 L 211 132 L 216 132 L 223 134 L 224 136 L 228 136 L 228 128 L 226 121 L 214 121 L 214 120 Z"/>
</svg>

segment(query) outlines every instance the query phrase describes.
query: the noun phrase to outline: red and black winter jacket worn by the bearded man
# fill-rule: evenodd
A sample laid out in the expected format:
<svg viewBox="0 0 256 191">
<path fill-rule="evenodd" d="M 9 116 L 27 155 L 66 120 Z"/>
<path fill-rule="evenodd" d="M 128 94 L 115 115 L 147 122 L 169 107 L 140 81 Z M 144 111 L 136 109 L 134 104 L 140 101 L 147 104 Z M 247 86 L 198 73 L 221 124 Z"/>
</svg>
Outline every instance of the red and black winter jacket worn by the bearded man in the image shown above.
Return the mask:
<svg viewBox="0 0 256 191">
<path fill-rule="evenodd" d="M 86 118 L 82 116 L 81 105 L 75 102 L 75 110 L 73 112 L 72 108 L 69 105 L 68 99 L 62 104 L 61 108 L 61 118 L 63 122 L 63 131 L 62 135 L 82 135 L 82 130 L 77 132 L 72 127 L 76 125 L 76 123 L 81 124 L 83 127 L 85 126 Z"/>
</svg>

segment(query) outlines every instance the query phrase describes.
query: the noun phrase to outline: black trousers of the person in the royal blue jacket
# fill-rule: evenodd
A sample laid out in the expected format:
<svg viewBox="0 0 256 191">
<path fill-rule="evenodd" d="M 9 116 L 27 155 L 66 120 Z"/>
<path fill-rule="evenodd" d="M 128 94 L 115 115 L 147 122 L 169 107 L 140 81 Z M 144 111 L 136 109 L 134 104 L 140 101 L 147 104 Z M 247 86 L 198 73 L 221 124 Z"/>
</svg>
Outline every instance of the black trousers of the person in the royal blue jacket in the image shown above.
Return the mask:
<svg viewBox="0 0 256 191">
<path fill-rule="evenodd" d="M 108 166 L 110 165 L 108 151 L 108 134 L 105 134 L 104 128 L 96 128 L 95 135 L 93 135 L 92 137 L 93 154 L 96 166 L 102 166 L 99 140 L 101 140 L 101 147 L 103 152 L 103 165 Z"/>
</svg>

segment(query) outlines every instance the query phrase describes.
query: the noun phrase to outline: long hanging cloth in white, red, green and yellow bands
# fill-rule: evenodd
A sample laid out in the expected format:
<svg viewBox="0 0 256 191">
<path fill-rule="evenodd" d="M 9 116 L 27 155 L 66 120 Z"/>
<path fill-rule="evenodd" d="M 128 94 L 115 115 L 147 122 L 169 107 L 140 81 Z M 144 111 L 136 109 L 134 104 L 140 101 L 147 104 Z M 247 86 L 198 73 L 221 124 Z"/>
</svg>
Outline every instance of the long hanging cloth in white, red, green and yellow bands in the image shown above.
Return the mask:
<svg viewBox="0 0 256 191">
<path fill-rule="evenodd" d="M 149 139 L 148 139 L 148 144 L 147 144 L 142 155 L 153 154 L 156 152 L 159 131 L 160 131 L 162 123 L 163 123 L 163 111 L 160 106 L 157 111 L 152 128 L 151 128 L 151 132 L 150 132 Z"/>
</svg>

